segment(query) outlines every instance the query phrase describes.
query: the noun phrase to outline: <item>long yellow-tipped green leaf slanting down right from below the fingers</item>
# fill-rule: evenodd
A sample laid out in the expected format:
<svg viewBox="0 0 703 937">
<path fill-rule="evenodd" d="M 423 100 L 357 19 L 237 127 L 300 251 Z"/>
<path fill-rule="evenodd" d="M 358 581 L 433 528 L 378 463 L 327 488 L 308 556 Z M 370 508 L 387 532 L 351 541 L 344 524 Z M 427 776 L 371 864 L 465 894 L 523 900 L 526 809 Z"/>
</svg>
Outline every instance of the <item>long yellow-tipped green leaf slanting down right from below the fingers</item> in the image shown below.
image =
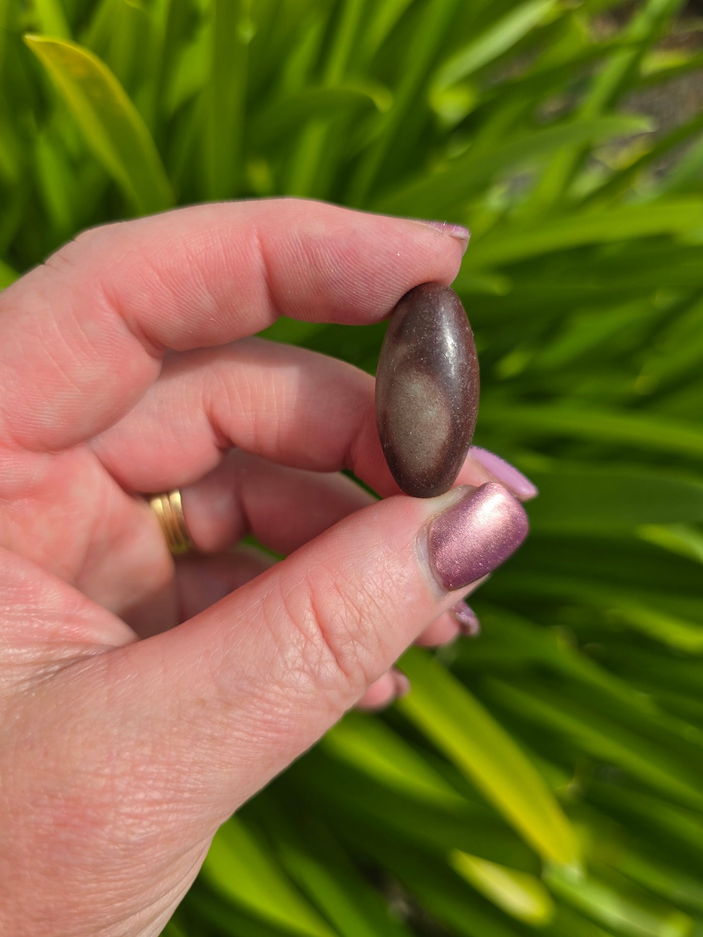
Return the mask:
<svg viewBox="0 0 703 937">
<path fill-rule="evenodd" d="M 545 781 L 514 740 L 471 693 L 424 651 L 401 668 L 411 693 L 400 710 L 481 789 L 516 830 L 547 858 L 576 862 L 574 832 Z"/>
</svg>

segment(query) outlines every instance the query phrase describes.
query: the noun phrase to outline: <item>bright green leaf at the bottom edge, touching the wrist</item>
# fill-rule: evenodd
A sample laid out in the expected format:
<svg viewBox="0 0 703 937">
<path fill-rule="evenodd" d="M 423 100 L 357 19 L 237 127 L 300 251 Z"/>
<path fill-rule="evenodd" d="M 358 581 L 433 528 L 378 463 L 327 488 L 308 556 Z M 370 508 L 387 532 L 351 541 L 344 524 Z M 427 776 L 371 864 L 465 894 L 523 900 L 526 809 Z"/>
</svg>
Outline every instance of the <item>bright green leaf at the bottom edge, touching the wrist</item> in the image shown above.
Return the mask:
<svg viewBox="0 0 703 937">
<path fill-rule="evenodd" d="M 334 937 L 334 931 L 236 817 L 217 831 L 202 874 L 220 894 L 283 930 L 305 937 Z"/>
</svg>

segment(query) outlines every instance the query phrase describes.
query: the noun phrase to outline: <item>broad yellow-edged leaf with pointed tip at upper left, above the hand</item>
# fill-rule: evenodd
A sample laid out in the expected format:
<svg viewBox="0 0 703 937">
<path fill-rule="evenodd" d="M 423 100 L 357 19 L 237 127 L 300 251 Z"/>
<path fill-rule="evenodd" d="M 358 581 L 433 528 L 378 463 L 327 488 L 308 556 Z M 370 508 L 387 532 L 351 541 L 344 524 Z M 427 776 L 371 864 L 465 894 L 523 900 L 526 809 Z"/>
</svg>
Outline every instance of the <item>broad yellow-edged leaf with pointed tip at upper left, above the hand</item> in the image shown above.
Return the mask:
<svg viewBox="0 0 703 937">
<path fill-rule="evenodd" d="M 173 195 L 142 117 L 110 69 L 72 42 L 25 36 L 96 158 L 141 214 L 162 211 Z"/>
</svg>

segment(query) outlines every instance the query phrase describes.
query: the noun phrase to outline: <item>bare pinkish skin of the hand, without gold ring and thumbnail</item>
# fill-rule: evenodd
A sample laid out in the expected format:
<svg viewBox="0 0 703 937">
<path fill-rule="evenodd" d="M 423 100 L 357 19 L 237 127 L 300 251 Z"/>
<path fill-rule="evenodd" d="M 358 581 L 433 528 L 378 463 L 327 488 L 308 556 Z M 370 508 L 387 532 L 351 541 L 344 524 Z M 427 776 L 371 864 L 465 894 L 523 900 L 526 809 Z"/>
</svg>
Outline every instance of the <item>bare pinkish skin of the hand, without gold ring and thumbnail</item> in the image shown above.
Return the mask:
<svg viewBox="0 0 703 937">
<path fill-rule="evenodd" d="M 247 336 L 382 320 L 462 252 L 251 201 L 90 231 L 0 294 L 2 933 L 159 933 L 217 826 L 456 636 L 470 588 L 418 550 L 441 498 L 398 492 L 373 379 Z M 175 562 L 139 494 L 174 487 L 199 550 Z"/>
</svg>

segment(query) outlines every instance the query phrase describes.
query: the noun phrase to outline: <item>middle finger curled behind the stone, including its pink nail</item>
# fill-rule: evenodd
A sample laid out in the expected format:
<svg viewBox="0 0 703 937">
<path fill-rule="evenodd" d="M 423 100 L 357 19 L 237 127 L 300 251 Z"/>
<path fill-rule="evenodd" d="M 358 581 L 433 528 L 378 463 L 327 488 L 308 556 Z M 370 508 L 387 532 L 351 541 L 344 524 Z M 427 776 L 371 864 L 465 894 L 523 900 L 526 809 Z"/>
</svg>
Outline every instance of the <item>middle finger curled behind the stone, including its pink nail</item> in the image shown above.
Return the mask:
<svg viewBox="0 0 703 937">
<path fill-rule="evenodd" d="M 374 379 L 261 339 L 167 359 L 139 404 L 92 443 L 112 476 L 136 491 L 198 479 L 228 445 L 299 468 L 352 468 L 379 494 L 398 492 L 381 452 Z M 536 494 L 515 468 L 476 447 L 457 483 L 496 478 L 519 498 Z"/>
</svg>

